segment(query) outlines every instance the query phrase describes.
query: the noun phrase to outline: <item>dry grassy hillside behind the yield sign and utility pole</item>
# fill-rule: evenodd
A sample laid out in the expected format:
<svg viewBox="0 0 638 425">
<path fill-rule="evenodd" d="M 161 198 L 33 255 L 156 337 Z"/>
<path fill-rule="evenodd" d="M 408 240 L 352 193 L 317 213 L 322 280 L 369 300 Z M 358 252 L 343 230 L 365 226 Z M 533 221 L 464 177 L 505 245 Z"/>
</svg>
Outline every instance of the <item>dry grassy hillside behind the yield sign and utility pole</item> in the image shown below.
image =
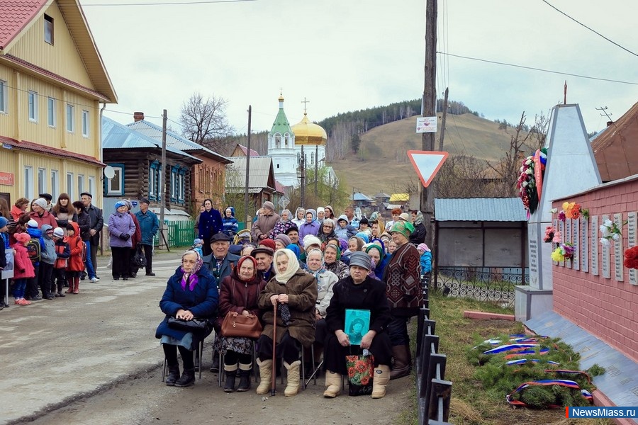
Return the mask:
<svg viewBox="0 0 638 425">
<path fill-rule="evenodd" d="M 441 114 L 436 146 L 440 140 Z M 360 152 L 330 164 L 337 175 L 352 188 L 368 196 L 379 192 L 393 193 L 405 187 L 410 178 L 418 181 L 412 164 L 405 155 L 420 150 L 421 135 L 415 133 L 416 116 L 374 128 L 361 136 Z M 467 154 L 494 162 L 509 149 L 510 137 L 493 121 L 466 113 L 447 115 L 443 150 L 449 154 Z M 510 129 L 513 130 L 513 129 Z"/>
</svg>

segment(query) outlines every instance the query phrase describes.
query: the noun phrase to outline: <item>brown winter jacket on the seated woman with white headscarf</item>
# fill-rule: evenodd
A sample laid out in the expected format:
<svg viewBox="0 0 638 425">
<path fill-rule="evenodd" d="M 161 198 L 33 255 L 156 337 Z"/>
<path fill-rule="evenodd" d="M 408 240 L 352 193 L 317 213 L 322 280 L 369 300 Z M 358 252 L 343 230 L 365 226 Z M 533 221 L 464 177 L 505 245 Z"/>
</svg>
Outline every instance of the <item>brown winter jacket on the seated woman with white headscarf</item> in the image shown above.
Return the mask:
<svg viewBox="0 0 638 425">
<path fill-rule="evenodd" d="M 271 339 L 274 317 L 270 297 L 279 294 L 288 294 L 289 296 L 290 322 L 287 325 L 284 324 L 281 315 L 277 314 L 276 343 L 279 344 L 286 331 L 289 331 L 290 336 L 303 346 L 310 346 L 315 341 L 317 280 L 299 268 L 286 283 L 279 283 L 276 278 L 269 281 L 259 296 L 259 308 L 266 310 L 263 316 L 264 330 L 262 335 Z"/>
</svg>

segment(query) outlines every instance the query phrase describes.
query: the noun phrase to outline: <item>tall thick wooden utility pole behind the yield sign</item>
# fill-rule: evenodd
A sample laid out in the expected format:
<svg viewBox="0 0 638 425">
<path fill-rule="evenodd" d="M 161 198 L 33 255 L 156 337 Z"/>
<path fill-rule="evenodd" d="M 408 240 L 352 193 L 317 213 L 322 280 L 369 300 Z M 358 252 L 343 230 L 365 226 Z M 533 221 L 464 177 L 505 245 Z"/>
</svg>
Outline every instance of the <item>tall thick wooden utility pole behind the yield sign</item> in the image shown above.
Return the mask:
<svg viewBox="0 0 638 425">
<path fill-rule="evenodd" d="M 437 0 L 427 0 L 425 4 L 425 81 L 422 99 L 422 116 L 437 115 L 437 94 L 435 90 L 437 78 Z M 435 150 L 436 133 L 422 134 L 422 149 Z M 425 227 L 429 228 L 425 240 L 432 243 L 432 217 L 434 217 L 434 197 L 432 191 L 422 188 L 420 210 L 425 218 Z"/>
</svg>

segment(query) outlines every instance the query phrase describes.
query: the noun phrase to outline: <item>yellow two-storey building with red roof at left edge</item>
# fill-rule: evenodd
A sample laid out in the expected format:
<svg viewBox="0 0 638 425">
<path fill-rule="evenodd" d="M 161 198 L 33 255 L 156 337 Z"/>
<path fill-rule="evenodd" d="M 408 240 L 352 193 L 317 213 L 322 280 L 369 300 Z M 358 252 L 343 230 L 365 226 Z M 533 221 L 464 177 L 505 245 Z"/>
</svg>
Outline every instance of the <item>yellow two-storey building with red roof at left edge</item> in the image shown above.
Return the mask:
<svg viewBox="0 0 638 425">
<path fill-rule="evenodd" d="M 0 1 L 0 197 L 100 206 L 101 103 L 117 96 L 79 2 Z"/>
</svg>

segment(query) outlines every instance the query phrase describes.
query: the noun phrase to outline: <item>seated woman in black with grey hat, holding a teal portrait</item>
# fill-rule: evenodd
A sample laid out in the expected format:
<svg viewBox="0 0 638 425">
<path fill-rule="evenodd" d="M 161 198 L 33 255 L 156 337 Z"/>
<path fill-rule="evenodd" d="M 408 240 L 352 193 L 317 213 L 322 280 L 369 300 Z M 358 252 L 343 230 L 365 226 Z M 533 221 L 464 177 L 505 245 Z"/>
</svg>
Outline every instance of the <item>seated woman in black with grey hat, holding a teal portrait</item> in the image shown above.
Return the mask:
<svg viewBox="0 0 638 425">
<path fill-rule="evenodd" d="M 342 390 L 341 375 L 347 373 L 345 356 L 352 350 L 347 330 L 345 312 L 369 310 L 369 330 L 362 336 L 360 349 L 367 349 L 374 356 L 374 380 L 372 398 L 383 398 L 390 380 L 391 344 L 386 333 L 390 322 L 390 307 L 386 298 L 386 285 L 368 276 L 371 259 L 364 252 L 353 252 L 350 257 L 350 276 L 340 280 L 332 288 L 332 300 L 325 321 L 329 336 L 325 340 L 323 358 L 326 365 L 324 397 L 334 398 Z"/>
</svg>

